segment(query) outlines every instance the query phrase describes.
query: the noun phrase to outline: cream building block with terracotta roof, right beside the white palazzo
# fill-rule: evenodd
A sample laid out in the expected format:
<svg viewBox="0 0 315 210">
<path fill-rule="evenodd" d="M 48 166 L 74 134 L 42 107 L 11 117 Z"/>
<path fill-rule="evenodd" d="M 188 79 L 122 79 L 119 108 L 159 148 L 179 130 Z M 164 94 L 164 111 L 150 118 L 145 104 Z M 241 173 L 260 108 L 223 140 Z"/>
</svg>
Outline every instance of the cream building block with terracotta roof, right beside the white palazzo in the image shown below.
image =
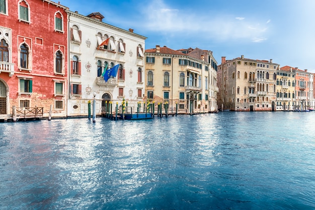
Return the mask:
<svg viewBox="0 0 315 210">
<path fill-rule="evenodd" d="M 145 100 L 154 101 L 155 106 L 168 102 L 170 113 L 176 112 L 176 104 L 179 113 L 217 110 L 216 61 L 211 51 L 176 51 L 156 45 L 144 55 Z"/>
</svg>

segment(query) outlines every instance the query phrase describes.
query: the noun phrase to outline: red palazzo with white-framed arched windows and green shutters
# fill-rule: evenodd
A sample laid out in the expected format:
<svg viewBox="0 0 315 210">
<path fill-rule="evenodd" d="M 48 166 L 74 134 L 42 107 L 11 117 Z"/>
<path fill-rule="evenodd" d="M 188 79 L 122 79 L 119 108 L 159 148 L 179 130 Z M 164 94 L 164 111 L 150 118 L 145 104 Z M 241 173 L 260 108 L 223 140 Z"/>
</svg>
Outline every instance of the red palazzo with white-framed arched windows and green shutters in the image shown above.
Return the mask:
<svg viewBox="0 0 315 210">
<path fill-rule="evenodd" d="M 13 107 L 66 116 L 68 8 L 47 0 L 0 0 L 0 117 Z M 25 109 L 24 109 L 25 110 Z"/>
</svg>

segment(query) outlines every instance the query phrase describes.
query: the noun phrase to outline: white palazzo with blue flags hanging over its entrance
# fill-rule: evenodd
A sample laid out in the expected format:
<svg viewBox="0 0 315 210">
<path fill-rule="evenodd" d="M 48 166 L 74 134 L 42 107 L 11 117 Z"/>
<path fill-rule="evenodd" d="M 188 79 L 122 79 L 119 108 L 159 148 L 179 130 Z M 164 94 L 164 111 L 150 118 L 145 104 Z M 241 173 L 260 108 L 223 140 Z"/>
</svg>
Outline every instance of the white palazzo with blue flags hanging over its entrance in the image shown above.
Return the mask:
<svg viewBox="0 0 315 210">
<path fill-rule="evenodd" d="M 88 101 L 96 99 L 96 114 L 105 103 L 113 108 L 122 100 L 137 106 L 144 93 L 145 39 L 141 35 L 103 23 L 100 13 L 89 16 L 68 11 L 69 95 L 67 116 L 87 116 Z M 101 45 L 105 40 L 107 45 Z M 119 64 L 115 77 L 105 82 L 102 73 Z M 92 103 L 91 103 L 92 104 Z M 92 106 L 91 106 L 92 107 Z M 114 111 L 114 110 L 113 110 Z M 92 111 L 91 111 L 92 112 Z"/>
</svg>

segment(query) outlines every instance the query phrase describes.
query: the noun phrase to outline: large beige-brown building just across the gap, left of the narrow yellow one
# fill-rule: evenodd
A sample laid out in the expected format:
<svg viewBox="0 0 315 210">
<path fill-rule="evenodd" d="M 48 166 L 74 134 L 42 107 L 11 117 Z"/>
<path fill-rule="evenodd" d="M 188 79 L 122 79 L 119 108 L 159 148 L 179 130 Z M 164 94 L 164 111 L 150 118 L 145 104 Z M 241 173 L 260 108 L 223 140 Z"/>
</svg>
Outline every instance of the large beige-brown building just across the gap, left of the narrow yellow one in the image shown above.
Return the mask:
<svg viewBox="0 0 315 210">
<path fill-rule="evenodd" d="M 275 111 L 278 64 L 241 57 L 218 66 L 219 109 L 230 111 Z"/>
</svg>

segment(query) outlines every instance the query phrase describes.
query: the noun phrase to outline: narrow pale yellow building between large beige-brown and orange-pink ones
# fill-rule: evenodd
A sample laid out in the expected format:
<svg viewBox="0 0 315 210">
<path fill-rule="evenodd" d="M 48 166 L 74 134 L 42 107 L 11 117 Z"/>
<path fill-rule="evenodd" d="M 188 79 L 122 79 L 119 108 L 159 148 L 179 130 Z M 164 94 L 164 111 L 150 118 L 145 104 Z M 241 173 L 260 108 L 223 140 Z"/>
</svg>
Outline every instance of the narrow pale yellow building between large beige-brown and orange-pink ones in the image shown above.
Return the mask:
<svg viewBox="0 0 315 210">
<path fill-rule="evenodd" d="M 295 69 L 289 66 L 277 69 L 277 111 L 293 111 L 295 102 Z"/>
</svg>

